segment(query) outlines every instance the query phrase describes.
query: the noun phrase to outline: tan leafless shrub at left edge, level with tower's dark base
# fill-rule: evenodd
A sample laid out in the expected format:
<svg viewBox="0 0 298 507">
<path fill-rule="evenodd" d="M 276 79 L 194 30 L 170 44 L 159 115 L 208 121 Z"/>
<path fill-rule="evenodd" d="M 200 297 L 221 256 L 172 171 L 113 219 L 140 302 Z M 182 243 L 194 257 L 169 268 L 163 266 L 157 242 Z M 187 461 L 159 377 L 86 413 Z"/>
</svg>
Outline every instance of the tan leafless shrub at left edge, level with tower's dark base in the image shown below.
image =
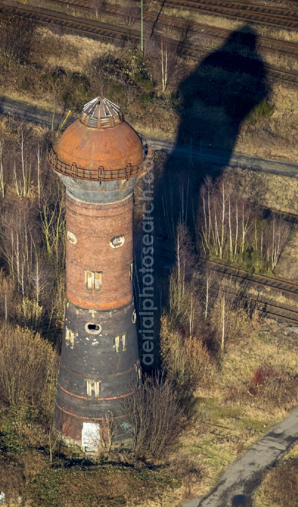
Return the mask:
<svg viewBox="0 0 298 507">
<path fill-rule="evenodd" d="M 52 404 L 58 359 L 39 334 L 7 325 L 0 330 L 0 392 L 10 405 Z"/>
</svg>

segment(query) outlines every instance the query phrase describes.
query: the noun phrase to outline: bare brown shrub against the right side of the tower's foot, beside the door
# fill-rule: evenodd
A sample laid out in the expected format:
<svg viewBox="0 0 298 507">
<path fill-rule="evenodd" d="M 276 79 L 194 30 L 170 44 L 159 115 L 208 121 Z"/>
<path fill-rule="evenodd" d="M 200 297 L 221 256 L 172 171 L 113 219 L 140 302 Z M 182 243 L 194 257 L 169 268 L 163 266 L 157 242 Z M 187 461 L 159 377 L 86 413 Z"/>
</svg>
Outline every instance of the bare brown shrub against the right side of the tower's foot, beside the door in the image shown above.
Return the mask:
<svg viewBox="0 0 298 507">
<path fill-rule="evenodd" d="M 177 438 L 183 423 L 174 384 L 164 375 L 146 378 L 144 385 L 121 402 L 133 438 L 133 449 L 159 457 Z"/>
</svg>

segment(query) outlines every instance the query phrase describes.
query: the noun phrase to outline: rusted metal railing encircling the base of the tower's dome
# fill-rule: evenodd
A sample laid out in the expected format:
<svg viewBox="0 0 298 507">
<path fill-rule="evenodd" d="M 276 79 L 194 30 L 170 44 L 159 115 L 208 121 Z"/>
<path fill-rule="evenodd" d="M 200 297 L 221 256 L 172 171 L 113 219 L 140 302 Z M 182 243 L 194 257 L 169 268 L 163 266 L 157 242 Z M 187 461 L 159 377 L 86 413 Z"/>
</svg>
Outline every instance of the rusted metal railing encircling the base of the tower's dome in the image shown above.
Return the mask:
<svg viewBox="0 0 298 507">
<path fill-rule="evenodd" d="M 52 169 L 65 176 L 71 176 L 75 179 L 88 179 L 94 182 L 113 181 L 117 179 L 129 179 L 133 176 L 144 174 L 152 165 L 152 157 L 154 152 L 151 148 L 145 147 L 145 160 L 142 164 L 132 166 L 127 164 L 126 167 L 121 169 L 105 169 L 103 166 L 98 169 L 83 169 L 78 167 L 74 162 L 73 164 L 65 164 L 58 159 L 57 154 L 53 150 L 47 151 L 47 160 Z"/>
</svg>

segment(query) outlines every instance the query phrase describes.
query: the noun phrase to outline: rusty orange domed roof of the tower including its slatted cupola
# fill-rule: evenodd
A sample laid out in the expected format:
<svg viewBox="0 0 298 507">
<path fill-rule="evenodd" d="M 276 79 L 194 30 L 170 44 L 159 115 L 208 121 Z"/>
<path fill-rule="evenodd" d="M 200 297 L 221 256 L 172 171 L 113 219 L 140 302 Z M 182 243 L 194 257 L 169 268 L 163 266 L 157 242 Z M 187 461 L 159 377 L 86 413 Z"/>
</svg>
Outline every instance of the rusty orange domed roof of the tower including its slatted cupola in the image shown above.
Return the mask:
<svg viewBox="0 0 298 507">
<path fill-rule="evenodd" d="M 89 179 L 85 169 L 93 173 L 101 168 L 101 173 L 114 171 L 109 179 L 122 179 L 122 171 L 116 178 L 115 171 L 127 167 L 135 168 L 137 173 L 141 171 L 143 143 L 133 127 L 123 120 L 118 106 L 108 99 L 96 97 L 85 104 L 80 120 L 63 132 L 49 159 L 54 170 L 65 174 L 68 172 L 63 166 L 76 167 L 83 174 L 78 177 Z"/>
</svg>

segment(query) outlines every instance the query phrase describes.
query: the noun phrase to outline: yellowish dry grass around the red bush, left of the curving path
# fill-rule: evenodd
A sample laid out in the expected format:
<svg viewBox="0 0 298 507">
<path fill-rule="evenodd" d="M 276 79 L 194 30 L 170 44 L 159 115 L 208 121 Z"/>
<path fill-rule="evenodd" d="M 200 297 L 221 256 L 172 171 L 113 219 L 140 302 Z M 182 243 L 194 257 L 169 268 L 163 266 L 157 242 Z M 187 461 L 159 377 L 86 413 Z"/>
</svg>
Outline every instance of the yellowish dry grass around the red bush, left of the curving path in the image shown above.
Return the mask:
<svg viewBox="0 0 298 507">
<path fill-rule="evenodd" d="M 193 484 L 192 495 L 208 493 L 222 470 L 295 406 L 295 350 L 295 335 L 288 334 L 286 324 L 270 320 L 227 346 L 216 383 L 211 389 L 197 389 L 195 420 L 176 446 L 176 455 L 186 454 L 201 463 L 202 479 Z M 253 372 L 262 364 L 291 379 L 275 406 L 247 392 Z"/>
</svg>

